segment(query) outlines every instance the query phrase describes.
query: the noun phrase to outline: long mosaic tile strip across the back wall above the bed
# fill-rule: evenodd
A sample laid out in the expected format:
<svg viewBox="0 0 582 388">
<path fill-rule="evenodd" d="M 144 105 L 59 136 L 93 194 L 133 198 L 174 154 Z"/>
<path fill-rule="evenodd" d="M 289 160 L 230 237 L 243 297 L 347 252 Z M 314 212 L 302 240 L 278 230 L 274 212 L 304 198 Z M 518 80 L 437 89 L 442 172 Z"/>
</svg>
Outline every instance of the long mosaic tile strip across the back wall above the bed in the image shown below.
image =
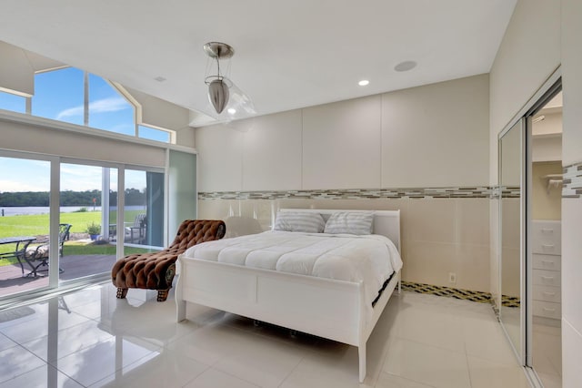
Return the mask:
<svg viewBox="0 0 582 388">
<path fill-rule="evenodd" d="M 467 199 L 498 198 L 499 189 L 490 186 L 426 189 L 327 189 L 288 191 L 200 192 L 198 199 Z M 503 188 L 504 198 L 519 198 L 518 188 Z"/>
</svg>

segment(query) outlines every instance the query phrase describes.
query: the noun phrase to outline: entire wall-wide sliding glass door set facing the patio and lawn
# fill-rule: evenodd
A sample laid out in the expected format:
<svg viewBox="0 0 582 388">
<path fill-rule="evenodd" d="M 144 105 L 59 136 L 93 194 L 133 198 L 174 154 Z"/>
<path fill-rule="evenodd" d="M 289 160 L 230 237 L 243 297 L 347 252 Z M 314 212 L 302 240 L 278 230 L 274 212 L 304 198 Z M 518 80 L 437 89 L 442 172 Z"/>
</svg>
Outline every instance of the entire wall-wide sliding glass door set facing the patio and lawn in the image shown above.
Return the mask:
<svg viewBox="0 0 582 388">
<path fill-rule="evenodd" d="M 0 151 L 0 302 L 104 279 L 166 229 L 164 168 Z"/>
</svg>

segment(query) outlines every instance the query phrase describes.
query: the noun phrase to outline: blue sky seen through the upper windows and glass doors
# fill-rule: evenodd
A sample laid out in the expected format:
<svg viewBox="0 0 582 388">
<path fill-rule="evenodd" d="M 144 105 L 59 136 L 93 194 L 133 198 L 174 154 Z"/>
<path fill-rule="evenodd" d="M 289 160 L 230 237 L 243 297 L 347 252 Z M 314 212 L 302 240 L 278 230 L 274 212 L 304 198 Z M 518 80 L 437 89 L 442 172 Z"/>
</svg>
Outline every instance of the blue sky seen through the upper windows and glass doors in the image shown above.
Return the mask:
<svg viewBox="0 0 582 388">
<path fill-rule="evenodd" d="M 2 87 L 0 85 L 0 87 Z M 89 74 L 89 127 L 135 136 L 135 107 L 129 104 L 103 78 Z M 84 124 L 84 71 L 66 67 L 35 75 L 35 95 L 31 114 L 77 125 Z M 25 97 L 0 92 L 0 109 L 25 113 Z M 140 126 L 140 137 L 167 141 L 155 129 Z M 163 133 L 165 135 L 166 133 Z M 0 192 L 49 191 L 49 162 L 0 157 Z M 116 190 L 116 168 L 111 168 L 112 188 Z M 61 166 L 61 190 L 101 189 L 102 168 Z M 144 189 L 144 171 L 125 171 L 125 187 Z"/>
</svg>

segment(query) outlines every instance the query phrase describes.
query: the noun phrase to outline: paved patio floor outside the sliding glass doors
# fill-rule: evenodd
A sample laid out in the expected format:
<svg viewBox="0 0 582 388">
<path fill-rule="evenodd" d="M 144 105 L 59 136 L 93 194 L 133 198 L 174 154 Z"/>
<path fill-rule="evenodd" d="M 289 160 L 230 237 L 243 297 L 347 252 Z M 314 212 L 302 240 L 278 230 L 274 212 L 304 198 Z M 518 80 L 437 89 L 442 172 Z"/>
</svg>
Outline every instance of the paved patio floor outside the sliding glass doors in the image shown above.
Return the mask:
<svg viewBox="0 0 582 388">
<path fill-rule="evenodd" d="M 61 281 L 82 278 L 97 273 L 109 272 L 115 263 L 113 255 L 71 255 L 63 256 L 59 265 L 63 270 L 59 274 Z M 30 272 L 26 268 L 25 274 Z M 46 274 L 46 271 L 39 271 Z M 36 278 L 23 278 L 20 265 L 6 265 L 0 267 L 0 297 L 15 294 L 17 292 L 34 290 L 48 284 L 48 277 L 38 276 Z"/>
</svg>

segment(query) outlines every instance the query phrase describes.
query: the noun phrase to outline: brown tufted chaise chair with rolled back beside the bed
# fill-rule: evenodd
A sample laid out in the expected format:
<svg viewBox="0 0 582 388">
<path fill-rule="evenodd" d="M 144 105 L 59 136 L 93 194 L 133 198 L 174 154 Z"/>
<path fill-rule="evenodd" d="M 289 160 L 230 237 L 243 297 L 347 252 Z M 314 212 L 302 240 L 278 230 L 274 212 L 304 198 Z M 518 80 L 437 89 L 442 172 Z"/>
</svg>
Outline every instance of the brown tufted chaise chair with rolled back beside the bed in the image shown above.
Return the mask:
<svg viewBox="0 0 582 388">
<path fill-rule="evenodd" d="M 135 253 L 117 260 L 111 270 L 117 298 L 125 298 L 127 289 L 136 288 L 157 290 L 157 301 L 166 301 L 176 274 L 178 255 L 199 242 L 222 239 L 225 233 L 222 220 L 185 220 L 166 250 Z"/>
</svg>

